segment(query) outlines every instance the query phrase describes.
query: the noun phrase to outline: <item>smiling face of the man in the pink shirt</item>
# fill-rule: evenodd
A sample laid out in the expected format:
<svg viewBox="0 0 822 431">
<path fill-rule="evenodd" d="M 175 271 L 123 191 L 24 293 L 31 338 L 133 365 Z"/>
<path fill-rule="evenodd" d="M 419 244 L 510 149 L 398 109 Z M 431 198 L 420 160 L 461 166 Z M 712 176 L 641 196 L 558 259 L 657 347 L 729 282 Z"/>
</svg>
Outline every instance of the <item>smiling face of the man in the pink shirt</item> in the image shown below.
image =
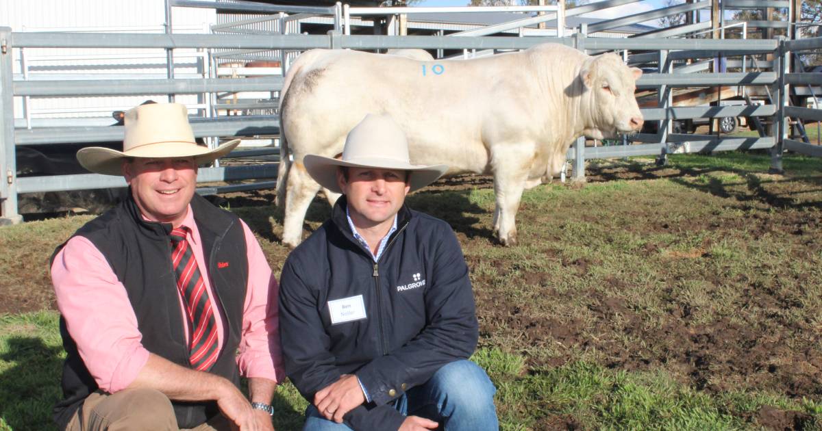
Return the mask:
<svg viewBox="0 0 822 431">
<path fill-rule="evenodd" d="M 122 175 L 143 217 L 174 227 L 182 223 L 196 188 L 194 158 L 134 158 L 123 161 Z"/>
</svg>

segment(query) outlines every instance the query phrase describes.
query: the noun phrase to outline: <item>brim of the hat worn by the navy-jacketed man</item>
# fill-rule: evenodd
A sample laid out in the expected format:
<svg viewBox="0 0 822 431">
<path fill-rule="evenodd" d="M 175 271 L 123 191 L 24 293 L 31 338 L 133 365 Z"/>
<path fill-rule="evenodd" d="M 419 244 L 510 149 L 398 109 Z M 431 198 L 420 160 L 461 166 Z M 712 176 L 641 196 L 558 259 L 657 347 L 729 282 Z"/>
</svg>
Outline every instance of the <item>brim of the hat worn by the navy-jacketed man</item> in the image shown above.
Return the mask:
<svg viewBox="0 0 822 431">
<path fill-rule="evenodd" d="M 302 158 L 302 164 L 314 181 L 335 193 L 343 192 L 337 185 L 337 167 L 376 167 L 409 171 L 409 191 L 422 189 L 448 171 L 448 165 L 412 165 L 390 158 L 361 158 L 357 162 L 351 162 L 315 154 L 307 154 Z"/>
</svg>

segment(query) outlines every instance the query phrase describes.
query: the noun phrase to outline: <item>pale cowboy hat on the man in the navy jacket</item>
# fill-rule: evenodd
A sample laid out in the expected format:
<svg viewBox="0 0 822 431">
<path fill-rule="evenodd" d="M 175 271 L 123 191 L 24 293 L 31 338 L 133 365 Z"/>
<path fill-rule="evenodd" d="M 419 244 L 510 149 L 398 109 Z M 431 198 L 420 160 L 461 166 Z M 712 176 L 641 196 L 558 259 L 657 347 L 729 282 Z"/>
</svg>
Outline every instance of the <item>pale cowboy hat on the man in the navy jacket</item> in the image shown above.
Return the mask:
<svg viewBox="0 0 822 431">
<path fill-rule="evenodd" d="M 307 154 L 302 163 L 314 181 L 335 193 L 343 192 L 337 185 L 340 166 L 409 171 L 410 191 L 422 189 L 448 170 L 447 165 L 411 164 L 408 140 L 397 123 L 387 115 L 372 114 L 363 118 L 345 138 L 342 160 Z"/>
</svg>

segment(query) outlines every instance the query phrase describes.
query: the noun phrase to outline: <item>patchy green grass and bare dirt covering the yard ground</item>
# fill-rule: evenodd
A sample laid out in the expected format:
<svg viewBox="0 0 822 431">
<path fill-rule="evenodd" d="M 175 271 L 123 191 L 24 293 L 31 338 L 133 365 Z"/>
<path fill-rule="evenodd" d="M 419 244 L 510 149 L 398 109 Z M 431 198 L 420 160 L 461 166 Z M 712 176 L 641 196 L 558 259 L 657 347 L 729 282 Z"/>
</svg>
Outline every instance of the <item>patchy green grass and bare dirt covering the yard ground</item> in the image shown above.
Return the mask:
<svg viewBox="0 0 822 431">
<path fill-rule="evenodd" d="M 409 196 L 463 245 L 501 429 L 762 429 L 765 406 L 822 429 L 822 163 L 670 162 L 597 162 L 616 179 L 526 191 L 512 248 L 492 238 L 492 190 Z M 278 216 L 234 207 L 278 271 Z M 327 215 L 317 201 L 308 224 Z M 87 219 L 0 229 L 0 284 L 48 291 L 41 266 Z M 63 356 L 56 312 L 0 314 L 0 430 L 53 429 Z M 276 429 L 301 428 L 290 383 L 274 403 Z"/>
</svg>

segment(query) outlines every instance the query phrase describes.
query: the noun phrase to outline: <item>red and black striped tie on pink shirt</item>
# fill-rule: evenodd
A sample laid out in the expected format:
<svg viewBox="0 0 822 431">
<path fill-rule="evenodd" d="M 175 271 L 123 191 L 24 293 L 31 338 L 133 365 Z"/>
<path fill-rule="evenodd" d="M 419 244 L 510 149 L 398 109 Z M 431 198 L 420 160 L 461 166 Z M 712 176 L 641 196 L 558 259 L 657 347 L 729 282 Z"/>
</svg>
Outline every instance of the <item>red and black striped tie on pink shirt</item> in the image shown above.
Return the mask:
<svg viewBox="0 0 822 431">
<path fill-rule="evenodd" d="M 177 273 L 177 287 L 182 295 L 188 314 L 189 356 L 192 368 L 206 371 L 217 361 L 217 323 L 214 308 L 205 282 L 197 268 L 192 248 L 186 241 L 187 227 L 171 232 L 171 261 Z"/>
</svg>

